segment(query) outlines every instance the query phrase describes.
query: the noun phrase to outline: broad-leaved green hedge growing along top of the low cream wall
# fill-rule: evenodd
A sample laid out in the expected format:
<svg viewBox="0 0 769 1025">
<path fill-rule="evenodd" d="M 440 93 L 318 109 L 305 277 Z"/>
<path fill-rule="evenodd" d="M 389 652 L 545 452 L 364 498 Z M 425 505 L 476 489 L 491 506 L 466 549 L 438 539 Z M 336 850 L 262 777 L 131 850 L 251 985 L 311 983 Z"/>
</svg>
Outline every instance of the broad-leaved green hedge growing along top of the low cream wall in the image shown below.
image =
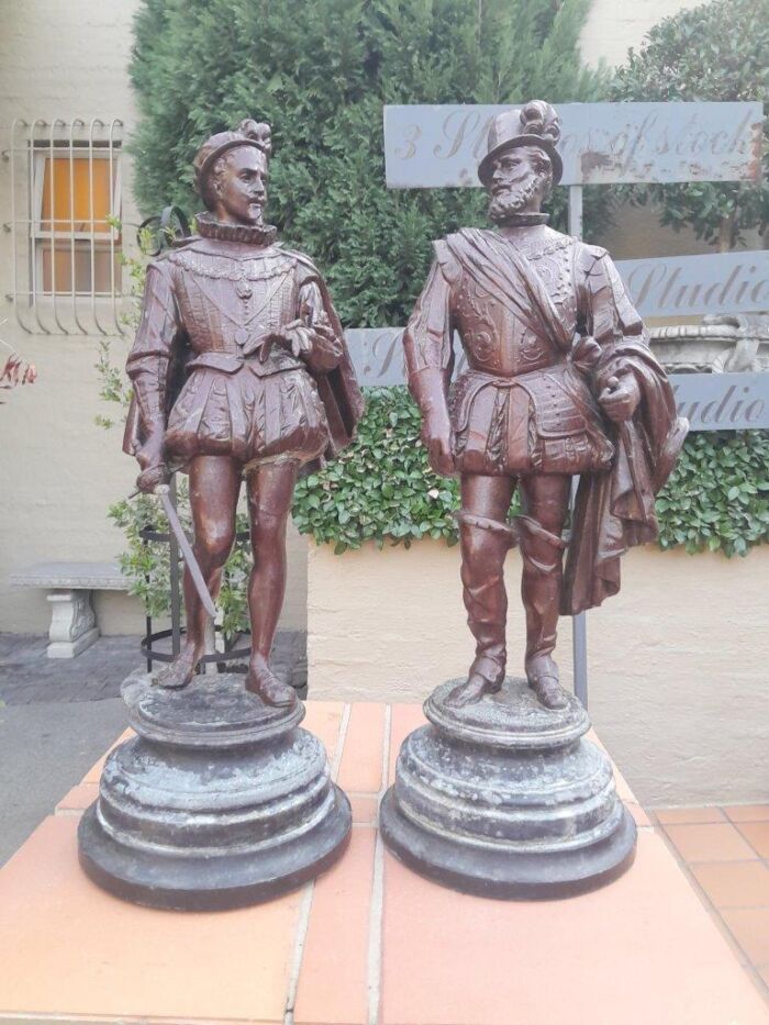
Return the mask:
<svg viewBox="0 0 769 1025">
<path fill-rule="evenodd" d="M 420 413 L 405 388 L 367 389 L 358 437 L 302 479 L 293 519 L 337 554 L 421 537 L 456 544 L 458 483 L 437 477 L 420 442 Z M 659 545 L 746 555 L 769 541 L 769 433 L 691 434 L 657 499 Z"/>
</svg>

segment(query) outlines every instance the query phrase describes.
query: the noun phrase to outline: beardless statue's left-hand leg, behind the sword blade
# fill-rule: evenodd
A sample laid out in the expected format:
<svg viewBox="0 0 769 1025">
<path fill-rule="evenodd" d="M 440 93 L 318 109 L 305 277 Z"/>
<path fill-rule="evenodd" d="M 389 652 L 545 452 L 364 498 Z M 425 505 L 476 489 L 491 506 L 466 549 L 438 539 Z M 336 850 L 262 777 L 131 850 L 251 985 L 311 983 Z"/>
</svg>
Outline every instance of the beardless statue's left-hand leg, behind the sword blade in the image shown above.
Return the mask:
<svg viewBox="0 0 769 1025">
<path fill-rule="evenodd" d="M 216 599 L 222 568 L 235 539 L 235 510 L 241 491 L 239 464 L 229 456 L 197 456 L 190 464 L 190 506 L 194 528 L 194 557 L 211 597 Z M 181 651 L 158 672 L 161 687 L 185 687 L 192 679 L 205 647 L 208 612 L 190 571 L 185 567 L 187 635 Z"/>
</svg>

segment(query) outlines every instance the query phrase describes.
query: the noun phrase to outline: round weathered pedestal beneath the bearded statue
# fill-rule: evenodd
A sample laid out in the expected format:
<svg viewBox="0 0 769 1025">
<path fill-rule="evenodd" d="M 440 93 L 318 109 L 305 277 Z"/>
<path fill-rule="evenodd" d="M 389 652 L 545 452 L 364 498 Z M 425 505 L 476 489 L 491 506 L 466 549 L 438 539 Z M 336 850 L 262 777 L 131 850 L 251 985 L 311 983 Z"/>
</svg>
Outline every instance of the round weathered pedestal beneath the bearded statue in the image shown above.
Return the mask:
<svg viewBox="0 0 769 1025">
<path fill-rule="evenodd" d="M 603 885 L 635 856 L 636 827 L 590 721 L 569 695 L 543 708 L 525 680 L 476 704 L 424 705 L 431 725 L 401 747 L 380 811 L 387 846 L 447 887 L 504 899 L 562 898 Z"/>
</svg>

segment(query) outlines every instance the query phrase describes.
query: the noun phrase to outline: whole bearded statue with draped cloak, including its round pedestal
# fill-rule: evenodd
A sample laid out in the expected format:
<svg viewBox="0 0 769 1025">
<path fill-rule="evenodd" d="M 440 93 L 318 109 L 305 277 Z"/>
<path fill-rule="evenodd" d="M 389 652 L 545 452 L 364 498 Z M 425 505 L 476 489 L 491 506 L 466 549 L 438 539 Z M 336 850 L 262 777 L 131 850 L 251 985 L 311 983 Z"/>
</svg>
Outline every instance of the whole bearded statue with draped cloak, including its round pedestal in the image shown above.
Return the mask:
<svg viewBox="0 0 769 1025">
<path fill-rule="evenodd" d="M 404 742 L 381 828 L 417 871 L 503 898 L 579 892 L 633 859 L 635 824 L 609 759 L 581 739 L 587 714 L 553 655 L 559 615 L 615 594 L 621 556 L 657 536 L 655 494 L 688 426 L 606 252 L 547 226 L 559 135 L 542 101 L 493 121 L 478 174 L 495 226 L 435 243 L 403 336 L 431 466 L 460 480 L 476 654 L 427 700 L 431 725 Z M 467 369 L 452 383 L 455 332 Z M 525 680 L 505 675 L 513 546 Z"/>
</svg>

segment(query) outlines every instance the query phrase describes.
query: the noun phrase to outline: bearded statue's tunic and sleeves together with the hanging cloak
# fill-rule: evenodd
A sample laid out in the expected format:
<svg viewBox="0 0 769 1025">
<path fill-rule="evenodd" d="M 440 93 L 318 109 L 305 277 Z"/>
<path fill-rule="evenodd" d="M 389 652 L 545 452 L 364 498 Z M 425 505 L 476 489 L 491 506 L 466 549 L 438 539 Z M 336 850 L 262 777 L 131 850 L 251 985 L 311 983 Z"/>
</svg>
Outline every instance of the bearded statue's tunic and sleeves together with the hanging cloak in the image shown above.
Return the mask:
<svg viewBox="0 0 769 1025">
<path fill-rule="evenodd" d="M 579 473 L 564 612 L 616 593 L 620 556 L 657 536 L 654 497 L 688 424 L 604 249 L 544 226 L 465 229 L 435 260 L 403 336 L 409 383 L 443 376 L 462 473 Z M 450 385 L 457 331 L 467 369 Z M 598 397 L 632 374 L 640 403 L 611 423 Z"/>
</svg>

